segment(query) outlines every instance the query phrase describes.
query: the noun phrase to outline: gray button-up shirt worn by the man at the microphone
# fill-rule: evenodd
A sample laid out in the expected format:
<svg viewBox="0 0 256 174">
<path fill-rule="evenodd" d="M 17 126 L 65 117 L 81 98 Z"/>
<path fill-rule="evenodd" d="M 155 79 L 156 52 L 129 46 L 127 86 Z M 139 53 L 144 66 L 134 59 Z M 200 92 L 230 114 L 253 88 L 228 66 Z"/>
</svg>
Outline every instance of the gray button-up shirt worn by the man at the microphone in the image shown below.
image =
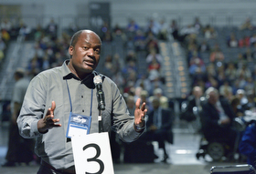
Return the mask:
<svg viewBox="0 0 256 174">
<path fill-rule="evenodd" d="M 67 141 L 66 132 L 69 122 L 69 93 L 72 103 L 72 112 L 90 116 L 91 88 L 92 111 L 90 133 L 99 132 L 98 126 L 98 101 L 93 77 L 96 72 L 83 80 L 75 77 L 67 66 L 69 60 L 62 67 L 55 67 L 41 72 L 34 77 L 28 88 L 17 124 L 21 136 L 24 138 L 37 138 L 36 153 L 43 160 L 56 169 L 74 168 L 71 142 Z M 69 85 L 69 93 L 66 79 Z M 109 78 L 104 77 L 102 89 L 105 95 L 105 110 L 102 111 L 103 131 L 113 128 L 123 141 L 131 142 L 138 138 L 138 133 L 133 128 L 133 117 L 130 116 L 119 89 Z M 51 128 L 46 134 L 37 130 L 37 121 L 46 116 L 51 102 L 56 102 L 54 118 L 59 118 L 60 128 Z M 133 113 L 132 113 L 133 114 Z"/>
</svg>

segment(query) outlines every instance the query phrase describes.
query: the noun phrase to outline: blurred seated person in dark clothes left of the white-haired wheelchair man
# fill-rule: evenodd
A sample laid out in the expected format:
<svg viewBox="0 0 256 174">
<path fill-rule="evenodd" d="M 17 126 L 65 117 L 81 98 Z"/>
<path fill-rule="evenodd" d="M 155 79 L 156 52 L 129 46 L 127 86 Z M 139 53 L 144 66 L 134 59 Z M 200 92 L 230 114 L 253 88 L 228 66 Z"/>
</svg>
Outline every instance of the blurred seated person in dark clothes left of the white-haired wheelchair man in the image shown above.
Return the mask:
<svg viewBox="0 0 256 174">
<path fill-rule="evenodd" d="M 193 87 L 192 95 L 187 97 L 187 107 L 180 115 L 181 119 L 185 119 L 190 122 L 197 118 L 193 112 L 193 107 L 201 107 L 200 97 L 202 97 L 202 95 L 203 91 L 201 87 Z"/>
</svg>

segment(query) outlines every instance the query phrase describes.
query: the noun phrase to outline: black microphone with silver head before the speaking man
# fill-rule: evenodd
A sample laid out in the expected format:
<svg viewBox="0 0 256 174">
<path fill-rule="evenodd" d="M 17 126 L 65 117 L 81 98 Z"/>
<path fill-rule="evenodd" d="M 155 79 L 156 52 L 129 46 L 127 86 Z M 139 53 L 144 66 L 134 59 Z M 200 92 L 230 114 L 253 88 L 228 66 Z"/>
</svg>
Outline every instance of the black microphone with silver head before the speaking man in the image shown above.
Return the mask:
<svg viewBox="0 0 256 174">
<path fill-rule="evenodd" d="M 98 108 L 101 110 L 104 110 L 105 109 L 105 97 L 104 97 L 104 92 L 102 90 L 102 78 L 100 76 L 94 77 L 93 83 L 97 89 Z"/>
</svg>

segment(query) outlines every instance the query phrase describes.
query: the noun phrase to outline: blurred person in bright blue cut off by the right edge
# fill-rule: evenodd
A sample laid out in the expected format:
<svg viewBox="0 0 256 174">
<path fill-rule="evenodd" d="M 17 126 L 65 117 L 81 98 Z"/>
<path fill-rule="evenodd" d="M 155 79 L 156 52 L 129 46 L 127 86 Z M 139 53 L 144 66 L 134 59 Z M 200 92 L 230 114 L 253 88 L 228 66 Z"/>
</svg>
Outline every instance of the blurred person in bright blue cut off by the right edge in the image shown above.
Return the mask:
<svg viewBox="0 0 256 174">
<path fill-rule="evenodd" d="M 256 169 L 256 125 L 255 122 L 249 125 L 240 140 L 240 153 L 247 157 L 248 164 Z"/>
</svg>

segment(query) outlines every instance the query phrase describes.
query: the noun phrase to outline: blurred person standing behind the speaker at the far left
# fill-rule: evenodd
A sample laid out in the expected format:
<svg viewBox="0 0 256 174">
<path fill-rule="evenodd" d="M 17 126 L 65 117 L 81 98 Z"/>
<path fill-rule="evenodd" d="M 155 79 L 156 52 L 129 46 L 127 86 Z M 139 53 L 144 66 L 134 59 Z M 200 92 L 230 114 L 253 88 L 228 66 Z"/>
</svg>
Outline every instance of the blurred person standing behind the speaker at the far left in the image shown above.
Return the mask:
<svg viewBox="0 0 256 174">
<path fill-rule="evenodd" d="M 13 90 L 13 97 L 11 100 L 11 118 L 9 123 L 9 138 L 8 149 L 5 155 L 5 164 L 2 167 L 15 167 L 16 164 L 26 163 L 34 160 L 34 146 L 33 138 L 22 138 L 19 135 L 16 119 L 22 107 L 23 99 L 25 97 L 29 79 L 26 77 L 26 70 L 17 68 L 14 74 L 16 84 Z"/>
</svg>

